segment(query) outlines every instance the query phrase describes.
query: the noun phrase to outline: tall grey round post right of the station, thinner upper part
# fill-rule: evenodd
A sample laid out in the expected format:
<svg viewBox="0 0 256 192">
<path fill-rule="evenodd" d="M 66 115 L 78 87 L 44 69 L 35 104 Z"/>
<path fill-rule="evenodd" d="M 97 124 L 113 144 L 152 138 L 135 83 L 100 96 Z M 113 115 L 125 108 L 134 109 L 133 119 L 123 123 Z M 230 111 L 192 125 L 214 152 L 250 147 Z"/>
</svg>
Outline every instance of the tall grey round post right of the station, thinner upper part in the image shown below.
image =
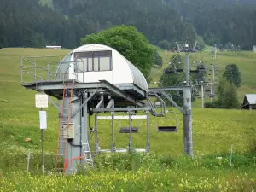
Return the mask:
<svg viewBox="0 0 256 192">
<path fill-rule="evenodd" d="M 189 86 L 189 52 L 186 52 L 186 85 Z M 183 90 L 184 151 L 193 157 L 191 90 Z"/>
</svg>

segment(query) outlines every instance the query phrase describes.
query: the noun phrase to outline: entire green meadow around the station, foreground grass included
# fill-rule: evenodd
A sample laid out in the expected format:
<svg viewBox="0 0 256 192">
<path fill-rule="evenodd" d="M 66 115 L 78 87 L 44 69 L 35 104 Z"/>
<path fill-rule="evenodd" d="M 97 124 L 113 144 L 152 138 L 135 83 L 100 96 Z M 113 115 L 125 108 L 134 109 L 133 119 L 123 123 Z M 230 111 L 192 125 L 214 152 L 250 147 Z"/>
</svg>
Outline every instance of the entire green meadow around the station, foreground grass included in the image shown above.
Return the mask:
<svg viewBox="0 0 256 192">
<path fill-rule="evenodd" d="M 172 53 L 159 50 L 166 63 Z M 158 133 L 157 125 L 175 124 L 174 120 L 150 118 L 151 154 L 96 157 L 96 169 L 73 177 L 56 176 L 54 165 L 57 147 L 58 114 L 47 108 L 48 129 L 44 132 L 45 169 L 40 175 L 40 130 L 35 91 L 20 85 L 20 59 L 28 55 L 67 55 L 69 50 L 0 49 L 0 191 L 252 191 L 256 189 L 256 119 L 253 111 L 201 109 L 197 101 L 192 109 L 194 159 L 183 156 L 183 115 L 177 113 L 177 133 Z M 191 55 L 190 61 L 199 59 Z M 196 58 L 197 57 L 197 58 Z M 201 53 L 208 62 L 212 53 Z M 225 64 L 236 63 L 241 70 L 245 93 L 256 85 L 256 55 L 249 52 L 223 52 L 218 55 L 219 75 Z M 157 69 L 154 69 L 157 70 Z M 154 72 L 153 72 L 154 73 Z M 254 74 L 255 73 L 255 74 Z M 154 76 L 157 81 L 160 73 Z M 242 101 L 241 101 L 242 102 Z M 93 119 L 93 118 L 92 118 Z M 117 122 L 116 132 L 128 122 Z M 134 134 L 137 148 L 146 144 L 146 122 L 135 122 L 140 128 Z M 101 148 L 110 148 L 111 125 L 99 124 Z M 31 138 L 31 142 L 25 142 Z M 92 143 L 94 139 L 92 139 Z M 128 145 L 129 136 L 116 134 L 117 148 Z M 253 144 L 254 143 L 254 144 Z M 230 147 L 233 161 L 230 167 Z M 91 148 L 93 149 L 92 144 Z M 254 147 L 254 150 L 253 150 Z M 26 154 L 32 152 L 31 175 L 26 174 Z M 222 157 L 218 158 L 218 157 Z M 218 158 L 218 159 L 217 159 Z"/>
</svg>

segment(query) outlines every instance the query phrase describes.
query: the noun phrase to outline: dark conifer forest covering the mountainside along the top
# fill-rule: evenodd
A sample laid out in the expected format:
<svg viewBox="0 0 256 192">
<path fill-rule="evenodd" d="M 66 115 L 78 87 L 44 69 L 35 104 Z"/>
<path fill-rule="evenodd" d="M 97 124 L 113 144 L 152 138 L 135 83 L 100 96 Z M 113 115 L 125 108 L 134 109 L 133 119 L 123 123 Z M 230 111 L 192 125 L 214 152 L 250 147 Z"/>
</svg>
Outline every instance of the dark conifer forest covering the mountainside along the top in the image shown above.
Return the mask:
<svg viewBox="0 0 256 192">
<path fill-rule="evenodd" d="M 120 24 L 136 26 L 150 44 L 166 49 L 176 41 L 193 43 L 199 36 L 209 45 L 252 49 L 255 44 L 256 3 L 251 0 L 52 0 L 44 6 L 42 2 L 0 1 L 0 47 L 55 44 L 73 49 L 86 35 Z"/>
</svg>

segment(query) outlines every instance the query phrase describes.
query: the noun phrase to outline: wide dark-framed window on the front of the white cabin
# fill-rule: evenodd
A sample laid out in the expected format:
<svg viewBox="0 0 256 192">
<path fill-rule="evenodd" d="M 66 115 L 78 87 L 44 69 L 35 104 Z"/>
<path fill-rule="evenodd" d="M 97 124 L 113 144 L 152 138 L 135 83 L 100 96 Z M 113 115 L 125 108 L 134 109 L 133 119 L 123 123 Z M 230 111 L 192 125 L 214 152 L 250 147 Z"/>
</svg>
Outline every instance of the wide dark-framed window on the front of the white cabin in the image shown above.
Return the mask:
<svg viewBox="0 0 256 192">
<path fill-rule="evenodd" d="M 77 66 L 81 72 L 103 72 L 112 70 L 111 50 L 75 53 Z"/>
</svg>

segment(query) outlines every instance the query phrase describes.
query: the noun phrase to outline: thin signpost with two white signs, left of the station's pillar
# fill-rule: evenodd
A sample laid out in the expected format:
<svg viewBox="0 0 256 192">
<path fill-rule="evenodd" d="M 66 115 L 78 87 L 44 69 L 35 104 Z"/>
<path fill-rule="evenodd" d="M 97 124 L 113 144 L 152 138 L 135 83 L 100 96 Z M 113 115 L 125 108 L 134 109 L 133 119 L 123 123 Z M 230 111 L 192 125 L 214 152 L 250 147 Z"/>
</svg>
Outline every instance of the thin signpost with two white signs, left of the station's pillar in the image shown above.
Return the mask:
<svg viewBox="0 0 256 192">
<path fill-rule="evenodd" d="M 48 95 L 36 94 L 36 108 L 41 108 L 39 111 L 39 127 L 41 130 L 41 149 L 42 149 L 42 172 L 44 174 L 44 130 L 47 128 L 46 111 L 43 108 L 48 108 Z"/>
</svg>

